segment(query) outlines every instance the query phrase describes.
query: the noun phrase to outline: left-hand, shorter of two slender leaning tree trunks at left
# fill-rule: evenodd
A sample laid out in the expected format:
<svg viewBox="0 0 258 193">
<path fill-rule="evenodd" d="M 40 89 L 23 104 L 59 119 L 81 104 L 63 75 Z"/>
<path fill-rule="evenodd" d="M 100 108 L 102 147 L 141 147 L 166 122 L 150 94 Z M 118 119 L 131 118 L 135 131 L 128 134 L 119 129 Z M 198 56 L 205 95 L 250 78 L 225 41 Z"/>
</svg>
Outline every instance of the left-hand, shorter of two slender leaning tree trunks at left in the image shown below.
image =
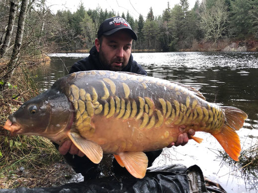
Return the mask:
<svg viewBox="0 0 258 193">
<path fill-rule="evenodd" d="M 18 0 L 10 1 L 9 21 L 8 21 L 8 25 L 7 25 L 5 38 L 4 38 L 2 47 L 0 48 L 0 58 L 2 58 L 3 55 L 5 54 L 7 48 L 9 47 L 10 41 L 11 41 L 11 35 L 12 35 L 17 5 L 18 5 Z"/>
</svg>

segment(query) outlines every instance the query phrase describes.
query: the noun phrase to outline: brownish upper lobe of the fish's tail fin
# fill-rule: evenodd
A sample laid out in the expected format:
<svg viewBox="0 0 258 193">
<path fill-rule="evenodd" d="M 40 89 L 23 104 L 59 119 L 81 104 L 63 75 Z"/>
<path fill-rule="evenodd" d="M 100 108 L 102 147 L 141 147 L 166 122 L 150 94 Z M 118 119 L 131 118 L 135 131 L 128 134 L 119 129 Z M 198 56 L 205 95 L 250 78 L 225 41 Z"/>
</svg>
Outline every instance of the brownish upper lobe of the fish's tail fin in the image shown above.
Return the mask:
<svg viewBox="0 0 258 193">
<path fill-rule="evenodd" d="M 235 130 L 243 127 L 247 114 L 236 107 L 222 107 L 226 116 L 226 124 Z"/>
</svg>

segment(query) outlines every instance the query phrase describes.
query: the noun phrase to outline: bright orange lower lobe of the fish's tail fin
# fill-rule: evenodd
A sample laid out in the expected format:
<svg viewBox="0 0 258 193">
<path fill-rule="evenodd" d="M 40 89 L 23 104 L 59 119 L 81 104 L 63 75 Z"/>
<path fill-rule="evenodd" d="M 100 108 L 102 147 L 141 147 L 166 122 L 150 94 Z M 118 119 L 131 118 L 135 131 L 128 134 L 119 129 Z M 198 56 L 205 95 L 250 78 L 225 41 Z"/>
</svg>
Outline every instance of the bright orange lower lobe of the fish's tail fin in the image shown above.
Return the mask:
<svg viewBox="0 0 258 193">
<path fill-rule="evenodd" d="M 236 130 L 226 125 L 222 128 L 221 132 L 212 135 L 219 141 L 221 146 L 233 160 L 239 160 L 241 145 Z"/>
</svg>

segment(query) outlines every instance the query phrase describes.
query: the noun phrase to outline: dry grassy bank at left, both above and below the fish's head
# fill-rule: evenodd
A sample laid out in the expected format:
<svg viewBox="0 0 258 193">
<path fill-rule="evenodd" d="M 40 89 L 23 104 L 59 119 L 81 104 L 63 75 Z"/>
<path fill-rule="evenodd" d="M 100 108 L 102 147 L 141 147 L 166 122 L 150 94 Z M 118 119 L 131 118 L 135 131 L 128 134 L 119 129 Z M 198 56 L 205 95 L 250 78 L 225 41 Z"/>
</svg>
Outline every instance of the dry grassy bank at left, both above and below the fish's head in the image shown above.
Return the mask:
<svg viewBox="0 0 258 193">
<path fill-rule="evenodd" d="M 66 182 L 66 173 L 67 176 L 74 173 L 49 139 L 11 136 L 2 128 L 12 112 L 39 94 L 36 67 L 30 63 L 20 65 L 5 89 L 0 91 L 0 189 L 48 187 L 53 186 L 53 182 L 58 186 Z"/>
</svg>

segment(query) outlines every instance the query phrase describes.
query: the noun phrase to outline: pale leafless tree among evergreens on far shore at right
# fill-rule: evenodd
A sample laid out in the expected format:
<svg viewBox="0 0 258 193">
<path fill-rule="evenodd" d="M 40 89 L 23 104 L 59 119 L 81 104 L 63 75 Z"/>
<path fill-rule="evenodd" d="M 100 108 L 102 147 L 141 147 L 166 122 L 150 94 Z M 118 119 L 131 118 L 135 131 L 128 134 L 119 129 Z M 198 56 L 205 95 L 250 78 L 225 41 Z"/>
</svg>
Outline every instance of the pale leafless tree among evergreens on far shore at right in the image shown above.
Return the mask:
<svg viewBox="0 0 258 193">
<path fill-rule="evenodd" d="M 225 0 L 216 0 L 214 5 L 207 7 L 206 0 L 201 4 L 200 27 L 206 40 L 214 40 L 214 44 L 227 30 L 228 11 Z"/>
</svg>

